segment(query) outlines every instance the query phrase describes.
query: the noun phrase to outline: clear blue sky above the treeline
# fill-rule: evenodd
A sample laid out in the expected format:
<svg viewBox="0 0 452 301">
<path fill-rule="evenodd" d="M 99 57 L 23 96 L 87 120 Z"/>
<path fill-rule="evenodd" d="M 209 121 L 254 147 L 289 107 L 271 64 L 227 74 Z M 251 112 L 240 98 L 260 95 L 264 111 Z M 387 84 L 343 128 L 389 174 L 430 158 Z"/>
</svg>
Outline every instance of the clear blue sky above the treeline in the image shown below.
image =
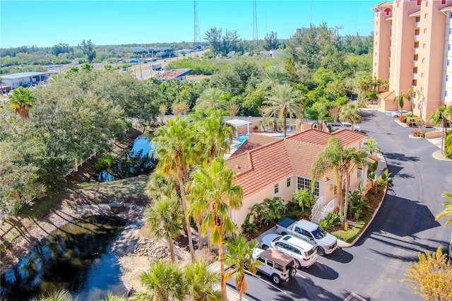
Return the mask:
<svg viewBox="0 0 452 301">
<path fill-rule="evenodd" d="M 257 0 L 258 37 L 272 30 L 289 38 L 295 28 L 310 23 L 341 26 L 340 35 L 369 35 L 380 1 Z M 253 1 L 198 0 L 201 37 L 213 27 L 237 30 L 253 38 Z M 58 43 L 76 46 L 191 42 L 194 40 L 194 2 L 167 1 L 5 1 L 0 0 L 0 47 Z"/>
</svg>

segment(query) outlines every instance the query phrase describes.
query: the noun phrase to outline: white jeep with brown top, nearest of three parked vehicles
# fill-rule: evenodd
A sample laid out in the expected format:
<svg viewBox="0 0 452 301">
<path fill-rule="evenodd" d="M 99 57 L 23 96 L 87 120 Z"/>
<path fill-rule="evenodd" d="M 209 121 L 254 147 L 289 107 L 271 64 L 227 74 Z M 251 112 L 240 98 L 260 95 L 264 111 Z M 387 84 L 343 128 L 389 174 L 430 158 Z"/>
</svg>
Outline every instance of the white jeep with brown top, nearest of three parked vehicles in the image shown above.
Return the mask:
<svg viewBox="0 0 452 301">
<path fill-rule="evenodd" d="M 290 281 L 297 273 L 295 259 L 277 249 L 268 248 L 263 250 L 254 248 L 253 259 L 261 261 L 262 265 L 256 266 L 256 268 L 258 271 L 270 276 L 275 284 Z"/>
</svg>

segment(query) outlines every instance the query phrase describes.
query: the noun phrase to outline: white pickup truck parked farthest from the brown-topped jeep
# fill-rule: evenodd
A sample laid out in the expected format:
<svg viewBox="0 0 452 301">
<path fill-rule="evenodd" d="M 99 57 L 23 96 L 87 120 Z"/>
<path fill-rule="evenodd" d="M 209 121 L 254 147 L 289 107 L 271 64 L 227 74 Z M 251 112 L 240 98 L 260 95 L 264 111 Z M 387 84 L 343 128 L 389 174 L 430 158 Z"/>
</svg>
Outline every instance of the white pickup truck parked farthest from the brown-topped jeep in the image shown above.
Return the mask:
<svg viewBox="0 0 452 301">
<path fill-rule="evenodd" d="M 338 239 L 326 232 L 319 225 L 309 220 L 292 220 L 283 218 L 275 225 L 275 230 L 280 235 L 292 234 L 314 245 L 320 256 L 331 254 L 338 248 Z"/>
</svg>

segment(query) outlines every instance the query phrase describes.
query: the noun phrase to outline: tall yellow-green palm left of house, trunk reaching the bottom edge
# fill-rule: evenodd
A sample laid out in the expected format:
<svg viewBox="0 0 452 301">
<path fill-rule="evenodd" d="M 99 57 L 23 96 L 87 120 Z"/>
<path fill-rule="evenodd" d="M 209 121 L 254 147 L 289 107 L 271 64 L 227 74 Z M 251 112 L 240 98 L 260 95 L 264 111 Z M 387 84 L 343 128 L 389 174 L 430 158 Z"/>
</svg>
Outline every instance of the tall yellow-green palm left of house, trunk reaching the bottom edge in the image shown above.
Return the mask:
<svg viewBox="0 0 452 301">
<path fill-rule="evenodd" d="M 237 231 L 237 225 L 230 218 L 230 210 L 242 206 L 242 187 L 233 184 L 235 172 L 225 165 L 222 158 L 217 158 L 208 165 L 196 170 L 190 183 L 191 193 L 195 197 L 205 198 L 208 207 L 206 217 L 201 225 L 203 235 L 210 229 L 210 240 L 218 245 L 221 273 L 221 293 L 226 299 L 225 253 L 223 237 Z"/>
</svg>

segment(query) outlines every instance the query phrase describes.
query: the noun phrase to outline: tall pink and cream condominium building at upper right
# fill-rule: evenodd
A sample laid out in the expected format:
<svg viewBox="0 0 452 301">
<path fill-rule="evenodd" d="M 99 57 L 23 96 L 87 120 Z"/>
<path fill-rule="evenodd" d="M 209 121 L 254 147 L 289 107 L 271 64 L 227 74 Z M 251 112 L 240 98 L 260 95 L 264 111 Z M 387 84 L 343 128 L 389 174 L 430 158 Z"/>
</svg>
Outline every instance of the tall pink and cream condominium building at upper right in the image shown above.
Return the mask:
<svg viewBox="0 0 452 301">
<path fill-rule="evenodd" d="M 452 105 L 452 0 L 385 1 L 371 9 L 372 75 L 389 81 L 380 108 L 398 110 L 394 98 L 409 94 L 403 110 L 428 120 L 441 105 Z"/>
</svg>

